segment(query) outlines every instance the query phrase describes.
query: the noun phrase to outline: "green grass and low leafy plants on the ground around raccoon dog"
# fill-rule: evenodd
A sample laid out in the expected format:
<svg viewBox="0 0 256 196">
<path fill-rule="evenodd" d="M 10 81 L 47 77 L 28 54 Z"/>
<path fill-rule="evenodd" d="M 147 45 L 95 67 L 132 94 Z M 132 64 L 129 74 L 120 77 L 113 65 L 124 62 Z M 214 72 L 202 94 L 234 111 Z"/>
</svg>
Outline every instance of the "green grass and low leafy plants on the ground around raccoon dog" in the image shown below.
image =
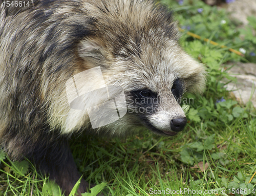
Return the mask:
<svg viewBox="0 0 256 196">
<path fill-rule="evenodd" d="M 226 62 L 256 62 L 251 55 L 256 53 L 256 43 L 250 34 L 256 19 L 248 18 L 249 26 L 243 31 L 224 10 L 201 1 L 184 1 L 181 6 L 162 2 L 176 9 L 182 28 L 228 48 L 243 48 L 245 56 L 184 33 L 181 45 L 208 71 L 205 93 L 185 95 L 194 99 L 193 104 L 183 104 L 189 119 L 186 129 L 173 138 L 147 131 L 127 139 L 73 138 L 71 148 L 79 171 L 88 182 L 106 182 L 101 184 L 104 195 L 215 195 L 214 190 L 218 195 L 255 195 L 256 178 L 251 177 L 256 171 L 256 111 L 250 102 L 239 104 L 220 81 L 234 80 L 225 72 Z M 240 38 L 242 34 L 245 39 Z M 28 161 L 13 163 L 5 157 L 0 154 L 0 196 L 61 195 L 58 186 L 35 172 Z M 84 195 L 95 195 L 93 191 L 102 187 Z M 168 194 L 170 189 L 194 192 Z M 201 194 L 205 190 L 212 192 Z"/>
</svg>

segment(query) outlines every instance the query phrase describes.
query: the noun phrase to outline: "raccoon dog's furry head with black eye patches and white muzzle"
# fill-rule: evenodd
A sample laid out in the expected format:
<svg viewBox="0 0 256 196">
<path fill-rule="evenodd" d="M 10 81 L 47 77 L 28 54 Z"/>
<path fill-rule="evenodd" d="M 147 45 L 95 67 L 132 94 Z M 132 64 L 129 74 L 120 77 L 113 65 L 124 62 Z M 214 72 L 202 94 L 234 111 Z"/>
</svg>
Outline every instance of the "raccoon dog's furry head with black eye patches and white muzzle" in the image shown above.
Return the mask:
<svg viewBox="0 0 256 196">
<path fill-rule="evenodd" d="M 78 48 L 87 65 L 101 67 L 107 85 L 125 92 L 127 114 L 109 125 L 111 132 L 120 134 L 132 124 L 176 135 L 187 122 L 179 100 L 184 92 L 204 90 L 204 67 L 180 47 L 176 24 L 165 8 L 119 2 L 115 8 L 103 2 L 94 17 L 94 35 Z"/>
</svg>

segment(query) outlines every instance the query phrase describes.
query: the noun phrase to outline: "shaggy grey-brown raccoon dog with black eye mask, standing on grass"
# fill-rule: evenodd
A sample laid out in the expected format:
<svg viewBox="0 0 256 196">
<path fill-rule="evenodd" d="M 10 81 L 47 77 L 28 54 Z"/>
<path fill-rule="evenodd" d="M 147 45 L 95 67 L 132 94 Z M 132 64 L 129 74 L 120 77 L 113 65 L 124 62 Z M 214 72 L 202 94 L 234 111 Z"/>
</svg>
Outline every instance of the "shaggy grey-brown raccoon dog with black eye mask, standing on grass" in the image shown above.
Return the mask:
<svg viewBox="0 0 256 196">
<path fill-rule="evenodd" d="M 30 159 L 68 195 L 80 178 L 70 135 L 125 137 L 144 126 L 174 136 L 184 128 L 179 100 L 186 91 L 203 91 L 205 70 L 181 49 L 172 13 L 163 6 L 41 0 L 14 14 L 7 11 L 2 3 L 0 144 L 13 160 Z M 70 107 L 66 83 L 97 67 L 106 85 L 122 88 L 127 113 L 93 129 L 86 110 Z M 97 88 L 97 79 L 88 77 L 84 81 L 93 80 Z M 82 180 L 78 193 L 87 188 Z"/>
</svg>

